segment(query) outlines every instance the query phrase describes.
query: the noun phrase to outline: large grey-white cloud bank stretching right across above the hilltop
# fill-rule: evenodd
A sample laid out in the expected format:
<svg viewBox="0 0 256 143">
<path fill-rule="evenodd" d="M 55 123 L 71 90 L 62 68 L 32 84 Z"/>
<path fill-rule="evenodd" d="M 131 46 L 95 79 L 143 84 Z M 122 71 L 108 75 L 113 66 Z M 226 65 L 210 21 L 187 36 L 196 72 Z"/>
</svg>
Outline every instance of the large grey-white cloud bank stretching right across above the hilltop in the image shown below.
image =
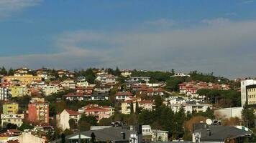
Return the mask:
<svg viewBox="0 0 256 143">
<path fill-rule="evenodd" d="M 256 21 L 163 31 L 96 32 L 60 34 L 56 54 L 0 57 L 4 65 L 57 68 L 88 66 L 129 69 L 178 69 L 224 76 L 255 76 Z"/>
</svg>

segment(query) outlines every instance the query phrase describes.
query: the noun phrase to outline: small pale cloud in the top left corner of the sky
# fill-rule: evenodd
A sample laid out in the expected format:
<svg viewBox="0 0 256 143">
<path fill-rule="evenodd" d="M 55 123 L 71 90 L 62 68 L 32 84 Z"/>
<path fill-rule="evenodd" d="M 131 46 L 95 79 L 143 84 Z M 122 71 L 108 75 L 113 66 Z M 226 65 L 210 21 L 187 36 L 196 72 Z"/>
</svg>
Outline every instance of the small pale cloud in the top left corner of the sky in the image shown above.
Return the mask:
<svg viewBox="0 0 256 143">
<path fill-rule="evenodd" d="M 0 18 L 10 16 L 29 6 L 40 4 L 42 0 L 0 0 Z"/>
</svg>

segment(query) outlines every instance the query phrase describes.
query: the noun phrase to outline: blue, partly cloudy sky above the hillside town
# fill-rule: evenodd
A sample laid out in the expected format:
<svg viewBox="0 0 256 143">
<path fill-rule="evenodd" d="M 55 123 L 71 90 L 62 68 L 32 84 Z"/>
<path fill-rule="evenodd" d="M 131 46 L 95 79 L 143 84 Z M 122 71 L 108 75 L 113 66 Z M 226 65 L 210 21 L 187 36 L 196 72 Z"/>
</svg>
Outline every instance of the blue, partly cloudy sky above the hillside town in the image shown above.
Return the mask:
<svg viewBox="0 0 256 143">
<path fill-rule="evenodd" d="M 256 77 L 256 0 L 0 0 L 0 66 Z"/>
</svg>

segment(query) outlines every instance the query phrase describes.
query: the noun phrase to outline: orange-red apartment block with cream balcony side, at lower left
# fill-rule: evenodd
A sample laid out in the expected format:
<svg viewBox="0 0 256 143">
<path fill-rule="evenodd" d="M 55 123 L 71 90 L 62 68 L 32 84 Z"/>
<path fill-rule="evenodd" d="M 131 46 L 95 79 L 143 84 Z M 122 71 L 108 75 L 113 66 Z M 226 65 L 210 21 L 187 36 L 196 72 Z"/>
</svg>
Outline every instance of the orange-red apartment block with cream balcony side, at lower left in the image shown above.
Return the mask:
<svg viewBox="0 0 256 143">
<path fill-rule="evenodd" d="M 28 107 L 28 120 L 35 124 L 49 123 L 49 104 L 46 102 L 33 102 Z"/>
</svg>

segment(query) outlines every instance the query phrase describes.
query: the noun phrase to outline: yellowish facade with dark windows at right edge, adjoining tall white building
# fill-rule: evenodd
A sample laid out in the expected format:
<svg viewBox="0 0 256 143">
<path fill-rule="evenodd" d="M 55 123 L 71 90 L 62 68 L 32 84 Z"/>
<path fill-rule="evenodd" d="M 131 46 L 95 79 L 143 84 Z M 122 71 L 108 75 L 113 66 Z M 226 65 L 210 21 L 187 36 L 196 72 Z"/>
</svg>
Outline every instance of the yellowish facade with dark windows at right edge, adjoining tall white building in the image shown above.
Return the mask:
<svg viewBox="0 0 256 143">
<path fill-rule="evenodd" d="M 246 86 L 247 90 L 247 104 L 248 105 L 256 105 L 256 84 Z"/>
</svg>

